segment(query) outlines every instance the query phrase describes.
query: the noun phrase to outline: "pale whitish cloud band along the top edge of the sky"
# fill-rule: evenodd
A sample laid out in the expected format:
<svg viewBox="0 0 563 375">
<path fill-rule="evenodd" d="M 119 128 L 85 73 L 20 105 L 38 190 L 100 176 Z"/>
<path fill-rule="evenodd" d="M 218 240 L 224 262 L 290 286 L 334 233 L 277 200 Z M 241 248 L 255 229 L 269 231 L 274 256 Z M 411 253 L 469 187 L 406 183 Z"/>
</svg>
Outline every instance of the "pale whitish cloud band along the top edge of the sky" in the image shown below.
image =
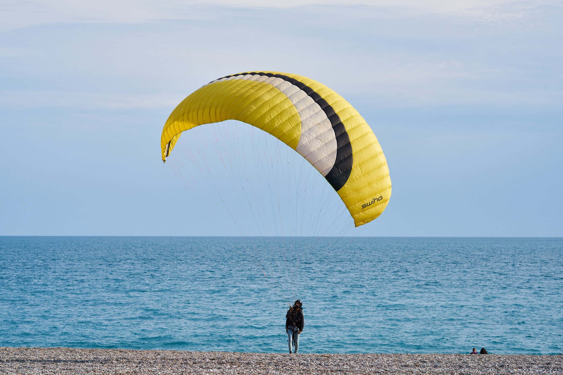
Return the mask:
<svg viewBox="0 0 563 375">
<path fill-rule="evenodd" d="M 0 1 L 0 30 L 49 23 L 146 23 L 157 20 L 205 19 L 204 8 L 393 8 L 400 12 L 468 16 L 484 19 L 519 17 L 530 8 L 557 0 L 30 0 Z"/>
</svg>

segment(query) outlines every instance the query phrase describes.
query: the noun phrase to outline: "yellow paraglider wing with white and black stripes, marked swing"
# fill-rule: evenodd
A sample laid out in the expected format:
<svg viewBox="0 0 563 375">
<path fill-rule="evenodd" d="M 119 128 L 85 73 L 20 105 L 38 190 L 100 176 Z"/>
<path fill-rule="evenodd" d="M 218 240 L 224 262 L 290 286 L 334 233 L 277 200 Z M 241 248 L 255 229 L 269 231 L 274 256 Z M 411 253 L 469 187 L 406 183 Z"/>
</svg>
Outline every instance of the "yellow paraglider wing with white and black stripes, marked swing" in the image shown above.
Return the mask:
<svg viewBox="0 0 563 375">
<path fill-rule="evenodd" d="M 239 73 L 199 88 L 164 124 L 162 160 L 182 132 L 229 119 L 270 133 L 307 159 L 337 191 L 356 226 L 387 206 L 391 178 L 372 129 L 342 96 L 301 75 Z"/>
</svg>

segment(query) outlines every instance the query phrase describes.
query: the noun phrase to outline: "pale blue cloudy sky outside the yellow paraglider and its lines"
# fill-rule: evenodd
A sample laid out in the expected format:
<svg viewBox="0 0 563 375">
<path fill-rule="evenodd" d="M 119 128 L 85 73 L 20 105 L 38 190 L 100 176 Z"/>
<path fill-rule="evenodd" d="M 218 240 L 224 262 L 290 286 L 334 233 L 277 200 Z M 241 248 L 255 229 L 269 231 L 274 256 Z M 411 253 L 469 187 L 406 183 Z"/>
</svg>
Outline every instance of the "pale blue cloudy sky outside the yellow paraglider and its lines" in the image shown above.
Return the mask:
<svg viewBox="0 0 563 375">
<path fill-rule="evenodd" d="M 160 132 L 202 84 L 280 70 L 381 142 L 362 235 L 563 236 L 563 2 L 271 4 L 0 1 L 0 235 L 229 234 Z"/>
</svg>

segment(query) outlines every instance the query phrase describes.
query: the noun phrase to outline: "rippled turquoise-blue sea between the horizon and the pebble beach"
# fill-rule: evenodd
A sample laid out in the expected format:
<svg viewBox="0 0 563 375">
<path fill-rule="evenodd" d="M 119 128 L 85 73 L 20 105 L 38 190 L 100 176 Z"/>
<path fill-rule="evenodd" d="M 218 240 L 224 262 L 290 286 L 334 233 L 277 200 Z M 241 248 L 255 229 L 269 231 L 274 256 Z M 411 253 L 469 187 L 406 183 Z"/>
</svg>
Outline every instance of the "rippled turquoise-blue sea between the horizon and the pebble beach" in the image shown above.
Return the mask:
<svg viewBox="0 0 563 375">
<path fill-rule="evenodd" d="M 303 353 L 560 354 L 563 238 L 0 237 L 0 346 L 287 352 L 293 298 Z"/>
</svg>

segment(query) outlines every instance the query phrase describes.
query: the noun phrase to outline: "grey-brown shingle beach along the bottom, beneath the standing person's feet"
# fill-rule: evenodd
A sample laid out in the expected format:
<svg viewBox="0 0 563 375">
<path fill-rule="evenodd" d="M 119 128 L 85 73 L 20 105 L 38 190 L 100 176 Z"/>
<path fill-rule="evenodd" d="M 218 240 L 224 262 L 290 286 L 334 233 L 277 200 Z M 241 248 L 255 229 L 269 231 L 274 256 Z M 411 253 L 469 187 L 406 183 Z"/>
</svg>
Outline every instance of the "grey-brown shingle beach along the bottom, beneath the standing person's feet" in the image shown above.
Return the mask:
<svg viewBox="0 0 563 375">
<path fill-rule="evenodd" d="M 0 347 L 0 374 L 562 374 L 563 355 L 267 354 Z"/>
</svg>

